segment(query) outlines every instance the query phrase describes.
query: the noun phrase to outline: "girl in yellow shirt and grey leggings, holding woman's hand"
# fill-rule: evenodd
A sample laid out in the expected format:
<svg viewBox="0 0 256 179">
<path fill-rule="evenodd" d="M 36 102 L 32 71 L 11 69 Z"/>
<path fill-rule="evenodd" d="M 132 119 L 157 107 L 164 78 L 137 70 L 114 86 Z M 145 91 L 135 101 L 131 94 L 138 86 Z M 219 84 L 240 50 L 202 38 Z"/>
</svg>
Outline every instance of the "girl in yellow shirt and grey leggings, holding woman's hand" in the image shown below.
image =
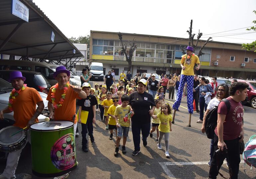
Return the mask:
<svg viewBox="0 0 256 179">
<path fill-rule="evenodd" d="M 160 125 L 158 126 L 159 130 L 159 138 L 158 138 L 158 149 L 162 150 L 161 141 L 163 136 L 165 136 L 165 157 L 170 157 L 169 155 L 169 136 L 170 131 L 172 131 L 172 109 L 169 103 L 163 104 L 161 108 L 161 112 L 157 115 L 153 115 L 151 112 L 151 117 L 153 119 L 157 119 L 159 117 Z"/>
</svg>

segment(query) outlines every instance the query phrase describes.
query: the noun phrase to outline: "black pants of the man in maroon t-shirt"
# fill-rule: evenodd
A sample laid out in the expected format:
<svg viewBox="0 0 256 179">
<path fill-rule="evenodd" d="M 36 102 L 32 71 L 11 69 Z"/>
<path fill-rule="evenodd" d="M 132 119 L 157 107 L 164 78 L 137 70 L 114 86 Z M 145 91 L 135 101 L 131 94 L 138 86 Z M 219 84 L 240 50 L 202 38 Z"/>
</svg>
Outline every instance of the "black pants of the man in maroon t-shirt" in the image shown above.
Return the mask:
<svg viewBox="0 0 256 179">
<path fill-rule="evenodd" d="M 218 144 L 218 136 L 214 134 L 214 153 L 211 160 L 211 166 L 209 171 L 209 179 L 216 179 L 218 175 L 218 171 L 223 164 L 226 156 L 217 155 L 217 144 Z M 231 179 L 237 179 L 239 172 L 239 163 L 240 163 L 240 153 L 239 153 L 239 142 L 238 138 L 233 140 L 224 140 L 227 145 L 227 158 L 229 160 L 229 173 L 232 173 Z M 218 157 L 218 168 L 217 168 L 217 157 Z"/>
</svg>

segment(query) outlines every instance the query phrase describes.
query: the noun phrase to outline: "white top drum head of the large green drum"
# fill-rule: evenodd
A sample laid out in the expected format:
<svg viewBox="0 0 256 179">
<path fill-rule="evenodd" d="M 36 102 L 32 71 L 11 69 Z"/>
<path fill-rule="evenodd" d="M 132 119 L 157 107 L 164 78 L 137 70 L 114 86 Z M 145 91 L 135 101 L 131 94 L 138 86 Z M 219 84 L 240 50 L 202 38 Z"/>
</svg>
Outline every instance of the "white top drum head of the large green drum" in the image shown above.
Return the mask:
<svg viewBox="0 0 256 179">
<path fill-rule="evenodd" d="M 73 127 L 74 123 L 70 121 L 54 120 L 48 122 L 38 122 L 30 126 L 31 130 L 54 131 L 59 129 L 67 129 Z"/>
</svg>

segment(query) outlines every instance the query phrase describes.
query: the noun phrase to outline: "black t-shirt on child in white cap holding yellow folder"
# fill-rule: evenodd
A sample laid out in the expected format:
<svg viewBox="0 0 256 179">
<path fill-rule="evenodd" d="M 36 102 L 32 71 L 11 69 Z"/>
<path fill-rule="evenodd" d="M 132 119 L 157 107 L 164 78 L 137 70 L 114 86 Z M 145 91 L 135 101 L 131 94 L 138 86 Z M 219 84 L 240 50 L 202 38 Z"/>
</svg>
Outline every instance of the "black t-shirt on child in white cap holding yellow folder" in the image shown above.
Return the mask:
<svg viewBox="0 0 256 179">
<path fill-rule="evenodd" d="M 87 120 L 92 120 L 92 118 L 93 118 L 92 107 L 97 104 L 98 104 L 98 102 L 94 95 L 89 95 L 89 96 L 87 96 L 87 98 L 80 99 L 77 101 L 77 105 L 82 107 L 82 111 L 89 112 Z"/>
</svg>

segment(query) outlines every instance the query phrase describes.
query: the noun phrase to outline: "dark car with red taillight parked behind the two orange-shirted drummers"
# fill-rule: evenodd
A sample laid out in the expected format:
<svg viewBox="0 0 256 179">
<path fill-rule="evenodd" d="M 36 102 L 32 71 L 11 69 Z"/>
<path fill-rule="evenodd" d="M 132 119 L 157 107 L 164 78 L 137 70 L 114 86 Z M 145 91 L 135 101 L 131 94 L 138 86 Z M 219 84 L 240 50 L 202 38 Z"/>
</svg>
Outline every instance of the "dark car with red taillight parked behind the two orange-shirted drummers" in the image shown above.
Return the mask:
<svg viewBox="0 0 256 179">
<path fill-rule="evenodd" d="M 15 70 L 0 70 L 0 78 L 8 81 L 11 71 Z M 35 71 L 20 71 L 22 72 L 22 75 L 26 77 L 25 84 L 27 84 L 28 87 L 35 88 L 37 91 L 48 94 L 51 85 L 41 73 Z"/>
</svg>

